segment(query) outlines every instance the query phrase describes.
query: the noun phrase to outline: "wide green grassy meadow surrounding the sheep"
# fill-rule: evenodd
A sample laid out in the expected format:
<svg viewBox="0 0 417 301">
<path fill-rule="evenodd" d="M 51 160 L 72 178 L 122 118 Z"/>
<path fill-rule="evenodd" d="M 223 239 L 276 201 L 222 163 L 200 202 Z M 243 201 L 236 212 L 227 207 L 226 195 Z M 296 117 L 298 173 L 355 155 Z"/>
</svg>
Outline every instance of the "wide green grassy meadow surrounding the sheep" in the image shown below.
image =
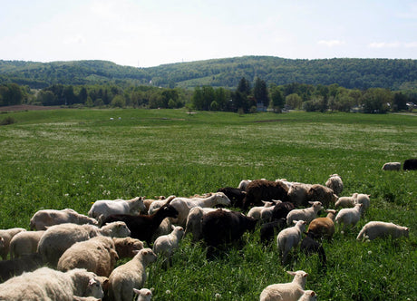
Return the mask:
<svg viewBox="0 0 417 301">
<path fill-rule="evenodd" d="M 260 244 L 258 228 L 245 234 L 243 248 L 213 260 L 185 238 L 172 267 L 160 259 L 149 267 L 153 300 L 257 300 L 298 269 L 319 300 L 416 300 L 417 171 L 381 170 L 384 162 L 417 158 L 415 115 L 126 109 L 0 114 L 6 117 L 16 122 L 0 126 L 0 228 L 28 228 L 39 209 L 86 214 L 97 199 L 190 196 L 243 179 L 325 184 L 338 173 L 344 196 L 371 195 L 355 228 L 324 241 L 325 270 L 298 251 L 283 267 L 276 244 Z M 371 220 L 407 226 L 410 238 L 356 241 Z"/>
</svg>

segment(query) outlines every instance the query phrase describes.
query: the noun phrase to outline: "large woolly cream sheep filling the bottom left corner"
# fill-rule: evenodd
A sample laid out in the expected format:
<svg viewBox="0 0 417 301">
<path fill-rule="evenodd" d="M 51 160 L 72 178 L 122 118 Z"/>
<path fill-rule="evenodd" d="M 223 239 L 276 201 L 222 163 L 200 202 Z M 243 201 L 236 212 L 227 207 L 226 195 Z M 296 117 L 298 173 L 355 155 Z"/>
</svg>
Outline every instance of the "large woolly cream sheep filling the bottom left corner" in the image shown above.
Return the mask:
<svg viewBox="0 0 417 301">
<path fill-rule="evenodd" d="M 72 301 L 73 296 L 102 298 L 102 286 L 96 275 L 81 268 L 63 273 L 41 267 L 0 285 L 1 300 Z"/>
</svg>

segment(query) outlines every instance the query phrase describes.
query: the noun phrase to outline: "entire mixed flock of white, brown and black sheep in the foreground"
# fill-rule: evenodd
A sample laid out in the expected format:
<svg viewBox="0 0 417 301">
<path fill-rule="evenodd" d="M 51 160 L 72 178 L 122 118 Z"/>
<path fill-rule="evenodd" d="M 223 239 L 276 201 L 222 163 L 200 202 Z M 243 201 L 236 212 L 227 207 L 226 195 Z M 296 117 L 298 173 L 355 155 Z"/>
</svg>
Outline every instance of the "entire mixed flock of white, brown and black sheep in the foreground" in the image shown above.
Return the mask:
<svg viewBox="0 0 417 301">
<path fill-rule="evenodd" d="M 306 254 L 318 253 L 325 266 L 321 239 L 332 239 L 335 223 L 343 229 L 356 225 L 371 205 L 369 195 L 342 197 L 343 189 L 337 174 L 325 185 L 242 180 L 238 188 L 189 198 L 97 200 L 88 216 L 73 209 L 40 210 L 30 220 L 31 231 L 0 230 L 0 299 L 150 300 L 151 291 L 143 287 L 146 267 L 157 257 L 166 257 L 170 267 L 184 236 L 203 240 L 207 257 L 214 257 L 257 225 L 262 243 L 276 241 L 283 263 L 300 245 Z M 227 209 L 215 209 L 218 205 Z M 323 209 L 327 216 L 320 218 Z M 357 239 L 408 235 L 409 228 L 371 221 Z M 131 259 L 116 267 L 123 257 Z M 288 273 L 292 282 L 267 286 L 260 300 L 316 299 L 305 290 L 304 271 Z"/>
</svg>

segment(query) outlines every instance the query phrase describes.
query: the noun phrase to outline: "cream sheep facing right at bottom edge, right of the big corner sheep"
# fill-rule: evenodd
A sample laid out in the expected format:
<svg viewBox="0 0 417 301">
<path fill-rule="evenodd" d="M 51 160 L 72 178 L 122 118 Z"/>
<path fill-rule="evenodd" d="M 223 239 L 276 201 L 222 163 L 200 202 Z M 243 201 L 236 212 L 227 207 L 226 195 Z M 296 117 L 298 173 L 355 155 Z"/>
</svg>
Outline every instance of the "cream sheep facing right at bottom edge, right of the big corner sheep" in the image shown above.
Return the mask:
<svg viewBox="0 0 417 301">
<path fill-rule="evenodd" d="M 116 267 L 109 277 L 109 294 L 115 301 L 131 301 L 133 288 L 141 288 L 146 281 L 146 267 L 157 256 L 150 248 L 141 249 L 127 263 Z"/>
</svg>

